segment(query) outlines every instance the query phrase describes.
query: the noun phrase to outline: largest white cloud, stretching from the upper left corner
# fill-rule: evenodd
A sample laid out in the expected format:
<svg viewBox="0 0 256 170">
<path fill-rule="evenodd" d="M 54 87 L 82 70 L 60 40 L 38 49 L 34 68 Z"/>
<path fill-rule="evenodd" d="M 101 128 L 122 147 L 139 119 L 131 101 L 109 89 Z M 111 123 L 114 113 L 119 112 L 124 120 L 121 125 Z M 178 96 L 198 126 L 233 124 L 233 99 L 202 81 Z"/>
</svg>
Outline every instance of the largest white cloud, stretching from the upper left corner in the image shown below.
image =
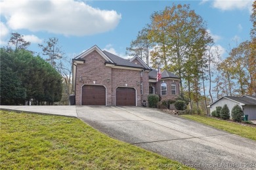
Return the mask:
<svg viewBox="0 0 256 170">
<path fill-rule="evenodd" d="M 115 10 L 100 10 L 82 1 L 0 2 L 1 15 L 11 29 L 48 31 L 63 35 L 94 35 L 114 29 L 121 20 Z"/>
</svg>

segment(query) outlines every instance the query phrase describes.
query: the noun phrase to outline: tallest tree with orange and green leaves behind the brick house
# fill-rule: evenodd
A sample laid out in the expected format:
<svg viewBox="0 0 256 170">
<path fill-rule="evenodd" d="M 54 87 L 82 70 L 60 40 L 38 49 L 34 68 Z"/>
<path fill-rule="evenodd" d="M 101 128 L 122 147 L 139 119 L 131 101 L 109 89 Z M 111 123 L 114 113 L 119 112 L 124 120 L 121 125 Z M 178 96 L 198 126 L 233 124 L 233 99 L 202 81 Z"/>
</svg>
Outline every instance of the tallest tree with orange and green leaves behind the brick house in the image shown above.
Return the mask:
<svg viewBox="0 0 256 170">
<path fill-rule="evenodd" d="M 155 46 L 152 61 L 160 61 L 164 69 L 173 71 L 185 80 L 190 108 L 192 92 L 198 102 L 201 88 L 203 58 L 206 47 L 213 42 L 206 31 L 203 18 L 190 9 L 190 5 L 173 5 L 152 14 L 149 37 Z M 193 86 L 193 88 L 192 88 Z M 181 95 L 183 83 L 181 82 Z"/>
</svg>

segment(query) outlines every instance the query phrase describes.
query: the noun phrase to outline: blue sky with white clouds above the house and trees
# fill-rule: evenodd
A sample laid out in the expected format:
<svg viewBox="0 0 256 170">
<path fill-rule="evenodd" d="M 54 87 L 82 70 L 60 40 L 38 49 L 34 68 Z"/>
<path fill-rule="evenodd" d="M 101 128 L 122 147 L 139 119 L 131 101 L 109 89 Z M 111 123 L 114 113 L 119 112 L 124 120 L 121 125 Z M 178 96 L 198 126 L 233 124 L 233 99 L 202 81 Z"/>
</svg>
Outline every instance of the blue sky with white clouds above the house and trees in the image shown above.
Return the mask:
<svg viewBox="0 0 256 170">
<path fill-rule="evenodd" d="M 150 23 L 154 11 L 174 4 L 190 4 L 207 22 L 215 46 L 226 50 L 236 41 L 249 40 L 249 21 L 253 1 L 0 1 L 1 46 L 12 32 L 32 42 L 29 50 L 44 39 L 58 37 L 66 56 L 73 58 L 93 45 L 127 58 L 125 48 Z M 230 46 L 230 47 L 229 47 Z M 43 57 L 43 56 L 42 56 Z"/>
</svg>

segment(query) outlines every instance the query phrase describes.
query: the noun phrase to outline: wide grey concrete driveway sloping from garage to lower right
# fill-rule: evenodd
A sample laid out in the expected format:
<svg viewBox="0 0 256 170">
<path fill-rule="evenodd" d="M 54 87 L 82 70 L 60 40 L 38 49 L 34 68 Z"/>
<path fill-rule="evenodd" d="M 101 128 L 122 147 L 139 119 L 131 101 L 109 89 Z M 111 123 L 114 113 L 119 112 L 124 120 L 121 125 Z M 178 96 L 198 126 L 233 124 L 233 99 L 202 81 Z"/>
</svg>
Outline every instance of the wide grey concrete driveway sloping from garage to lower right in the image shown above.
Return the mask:
<svg viewBox="0 0 256 170">
<path fill-rule="evenodd" d="M 255 141 L 157 109 L 83 106 L 77 116 L 110 137 L 196 169 L 256 169 Z"/>
</svg>

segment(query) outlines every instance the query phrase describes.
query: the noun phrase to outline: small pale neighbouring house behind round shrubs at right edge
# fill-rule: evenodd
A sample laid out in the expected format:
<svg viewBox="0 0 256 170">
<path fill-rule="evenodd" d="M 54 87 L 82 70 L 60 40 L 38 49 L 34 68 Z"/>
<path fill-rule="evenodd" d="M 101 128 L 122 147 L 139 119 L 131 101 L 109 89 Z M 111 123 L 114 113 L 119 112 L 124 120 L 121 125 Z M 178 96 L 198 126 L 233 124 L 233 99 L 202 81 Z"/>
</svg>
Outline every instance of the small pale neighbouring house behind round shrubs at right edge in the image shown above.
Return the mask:
<svg viewBox="0 0 256 170">
<path fill-rule="evenodd" d="M 244 95 L 242 97 L 231 97 L 224 96 L 217 101 L 211 103 L 208 107 L 210 108 L 210 112 L 216 110 L 216 107 L 223 107 L 224 105 L 228 106 L 230 110 L 230 118 L 231 110 L 235 105 L 239 105 L 242 110 L 244 110 L 244 114 L 248 115 L 248 120 L 256 120 L 256 96 L 255 95 Z"/>
</svg>

